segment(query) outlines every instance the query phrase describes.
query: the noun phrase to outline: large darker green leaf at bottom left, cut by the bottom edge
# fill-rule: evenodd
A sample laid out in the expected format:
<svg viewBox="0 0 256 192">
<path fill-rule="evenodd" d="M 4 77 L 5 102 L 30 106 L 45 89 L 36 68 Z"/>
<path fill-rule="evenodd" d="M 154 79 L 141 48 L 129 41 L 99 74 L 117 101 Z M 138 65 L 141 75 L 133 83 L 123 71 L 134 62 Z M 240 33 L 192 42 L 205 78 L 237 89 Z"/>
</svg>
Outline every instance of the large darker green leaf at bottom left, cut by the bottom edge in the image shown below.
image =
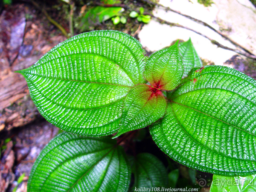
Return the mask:
<svg viewBox="0 0 256 192">
<path fill-rule="evenodd" d="M 39 154 L 28 192 L 127 192 L 130 169 L 116 140 L 62 133 Z"/>
</svg>

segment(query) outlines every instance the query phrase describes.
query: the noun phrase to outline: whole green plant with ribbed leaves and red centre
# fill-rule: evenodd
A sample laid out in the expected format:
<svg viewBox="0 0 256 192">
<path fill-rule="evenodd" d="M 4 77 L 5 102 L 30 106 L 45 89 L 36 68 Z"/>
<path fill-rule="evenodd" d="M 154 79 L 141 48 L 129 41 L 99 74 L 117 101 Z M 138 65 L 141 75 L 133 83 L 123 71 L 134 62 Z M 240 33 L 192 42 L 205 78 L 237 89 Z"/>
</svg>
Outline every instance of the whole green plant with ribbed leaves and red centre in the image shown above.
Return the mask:
<svg viewBox="0 0 256 192">
<path fill-rule="evenodd" d="M 157 157 L 138 154 L 129 163 L 119 145 L 147 126 L 183 165 L 226 176 L 256 173 L 256 81 L 228 67 L 202 67 L 190 39 L 148 58 L 130 35 L 87 32 L 18 72 L 40 113 L 69 132 L 37 158 L 29 192 L 128 191 L 131 171 L 131 189 L 165 187 Z M 117 141 L 107 136 L 116 132 Z M 175 185 L 177 173 L 169 179 Z"/>
</svg>

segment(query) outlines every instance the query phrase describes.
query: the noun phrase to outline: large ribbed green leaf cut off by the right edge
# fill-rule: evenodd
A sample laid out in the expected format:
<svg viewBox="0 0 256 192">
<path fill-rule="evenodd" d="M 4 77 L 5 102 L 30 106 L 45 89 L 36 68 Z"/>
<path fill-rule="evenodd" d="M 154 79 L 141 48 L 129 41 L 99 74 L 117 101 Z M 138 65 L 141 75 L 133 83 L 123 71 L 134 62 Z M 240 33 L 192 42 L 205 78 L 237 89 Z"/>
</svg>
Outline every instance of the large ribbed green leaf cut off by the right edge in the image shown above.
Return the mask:
<svg viewBox="0 0 256 192">
<path fill-rule="evenodd" d="M 256 81 L 223 66 L 192 70 L 151 135 L 178 162 L 218 175 L 256 173 Z"/>
</svg>

